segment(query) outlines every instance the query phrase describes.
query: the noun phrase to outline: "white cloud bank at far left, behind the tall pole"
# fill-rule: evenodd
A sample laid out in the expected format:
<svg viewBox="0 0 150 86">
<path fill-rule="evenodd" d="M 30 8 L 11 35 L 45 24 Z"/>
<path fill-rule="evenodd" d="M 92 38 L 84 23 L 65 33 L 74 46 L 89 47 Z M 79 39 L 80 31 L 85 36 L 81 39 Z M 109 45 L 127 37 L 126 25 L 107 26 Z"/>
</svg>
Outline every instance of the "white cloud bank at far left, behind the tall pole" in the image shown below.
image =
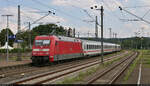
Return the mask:
<svg viewBox="0 0 150 86">
<path fill-rule="evenodd" d="M 29 11 L 34 11 L 33 12 L 29 12 Z M 10 29 L 13 31 L 13 33 L 16 33 L 17 32 L 17 14 L 18 14 L 18 11 L 17 11 L 17 7 L 6 7 L 6 8 L 1 8 L 1 12 L 3 12 L 3 14 L 12 14 L 13 17 L 10 18 Z M 35 12 L 38 12 L 38 10 L 35 10 L 35 9 L 31 9 L 31 8 L 27 8 L 27 7 L 24 7 L 21 9 L 21 30 L 26 30 L 27 28 L 24 28 L 27 24 L 25 24 L 26 22 L 33 22 L 39 18 L 41 18 L 42 16 L 44 16 L 45 14 L 38 14 L 38 13 L 35 13 Z M 1 17 L 1 26 L 0 28 L 6 28 L 6 22 L 3 22 L 3 21 L 6 21 L 6 18 L 2 18 Z M 59 16 L 55 16 L 55 15 L 49 15 L 45 18 L 43 18 L 42 20 L 40 20 L 39 22 L 50 22 L 50 23 L 55 23 L 55 22 L 67 22 L 66 19 L 62 18 L 62 17 L 59 17 Z"/>
</svg>

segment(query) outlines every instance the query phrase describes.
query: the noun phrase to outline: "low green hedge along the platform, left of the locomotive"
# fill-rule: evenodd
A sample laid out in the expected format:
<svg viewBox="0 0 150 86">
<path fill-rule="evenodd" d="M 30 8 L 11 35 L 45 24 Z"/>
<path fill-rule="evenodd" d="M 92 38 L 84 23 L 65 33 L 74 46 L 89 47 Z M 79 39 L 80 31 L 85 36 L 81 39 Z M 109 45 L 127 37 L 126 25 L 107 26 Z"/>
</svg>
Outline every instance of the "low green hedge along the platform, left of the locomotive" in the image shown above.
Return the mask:
<svg viewBox="0 0 150 86">
<path fill-rule="evenodd" d="M 17 53 L 18 51 L 20 53 L 25 53 L 25 52 L 31 52 L 32 49 L 29 49 L 29 48 L 26 48 L 26 49 L 15 48 L 15 49 L 9 50 L 9 53 Z M 0 53 L 6 53 L 6 52 L 7 52 L 7 49 L 0 49 Z"/>
</svg>

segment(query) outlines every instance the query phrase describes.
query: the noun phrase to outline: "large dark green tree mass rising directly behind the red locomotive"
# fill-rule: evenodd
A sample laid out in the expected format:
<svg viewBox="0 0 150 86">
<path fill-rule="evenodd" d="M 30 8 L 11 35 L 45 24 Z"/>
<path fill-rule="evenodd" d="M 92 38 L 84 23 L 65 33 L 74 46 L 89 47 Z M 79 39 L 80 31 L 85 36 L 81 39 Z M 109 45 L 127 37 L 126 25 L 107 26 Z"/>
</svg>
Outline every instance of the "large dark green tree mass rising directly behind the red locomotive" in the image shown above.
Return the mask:
<svg viewBox="0 0 150 86">
<path fill-rule="evenodd" d="M 66 30 L 62 26 L 57 26 L 56 24 L 46 24 L 34 27 L 31 32 L 25 31 L 18 34 L 18 38 L 23 40 L 21 47 L 25 48 L 29 46 L 29 34 L 31 34 L 31 43 L 33 44 L 34 38 L 38 35 L 50 35 L 52 31 L 55 30 L 55 35 L 65 35 Z"/>
</svg>

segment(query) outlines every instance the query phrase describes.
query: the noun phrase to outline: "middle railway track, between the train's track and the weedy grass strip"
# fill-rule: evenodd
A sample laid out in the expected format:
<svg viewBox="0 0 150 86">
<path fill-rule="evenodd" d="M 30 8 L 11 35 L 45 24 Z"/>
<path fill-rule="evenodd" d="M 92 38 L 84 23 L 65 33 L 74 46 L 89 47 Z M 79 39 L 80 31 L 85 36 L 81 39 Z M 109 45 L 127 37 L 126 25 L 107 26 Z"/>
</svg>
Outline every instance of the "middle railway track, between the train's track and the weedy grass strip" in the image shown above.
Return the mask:
<svg viewBox="0 0 150 86">
<path fill-rule="evenodd" d="M 106 58 L 104 59 L 104 61 L 110 61 L 112 59 L 114 59 L 115 57 L 111 57 L 111 58 Z M 119 58 L 119 57 L 117 57 Z M 116 59 L 116 58 L 115 58 Z M 88 61 L 88 62 L 84 62 L 84 63 L 80 63 L 80 64 L 76 64 L 76 65 L 68 65 L 66 67 L 63 67 L 61 69 L 58 70 L 54 70 L 54 71 L 50 71 L 50 72 L 46 72 L 43 74 L 39 74 L 36 76 L 31 76 L 28 78 L 23 78 L 21 80 L 15 80 L 9 83 L 13 83 L 13 84 L 47 84 L 50 83 L 51 81 L 54 81 L 58 78 L 61 78 L 63 76 L 66 76 L 68 74 L 77 72 L 79 70 L 94 66 L 99 64 L 100 61 L 99 59 L 95 60 L 95 61 Z"/>
</svg>

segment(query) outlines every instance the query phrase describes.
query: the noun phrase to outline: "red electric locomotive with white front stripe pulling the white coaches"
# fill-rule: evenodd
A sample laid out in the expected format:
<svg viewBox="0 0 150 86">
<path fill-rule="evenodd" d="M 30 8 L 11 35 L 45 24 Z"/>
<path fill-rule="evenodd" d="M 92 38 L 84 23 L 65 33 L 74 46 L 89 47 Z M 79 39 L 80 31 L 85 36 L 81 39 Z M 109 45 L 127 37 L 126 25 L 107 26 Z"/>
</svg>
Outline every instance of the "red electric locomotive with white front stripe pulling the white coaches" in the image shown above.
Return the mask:
<svg viewBox="0 0 150 86">
<path fill-rule="evenodd" d="M 83 56 L 81 40 L 64 36 L 36 36 L 32 62 L 46 63 Z"/>
</svg>

